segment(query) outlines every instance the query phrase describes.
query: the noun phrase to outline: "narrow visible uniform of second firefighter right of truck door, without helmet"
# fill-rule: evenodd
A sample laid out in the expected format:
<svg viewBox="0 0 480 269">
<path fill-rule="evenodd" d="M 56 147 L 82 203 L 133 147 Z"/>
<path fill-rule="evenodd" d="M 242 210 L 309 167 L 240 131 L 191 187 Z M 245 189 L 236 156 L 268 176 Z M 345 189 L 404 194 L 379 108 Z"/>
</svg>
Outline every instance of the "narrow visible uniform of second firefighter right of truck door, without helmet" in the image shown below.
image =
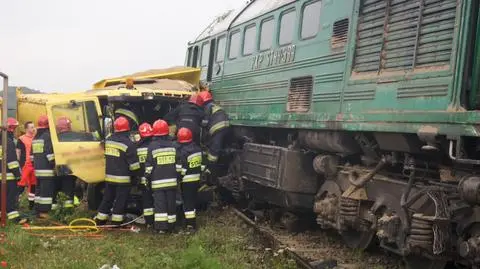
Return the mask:
<svg viewBox="0 0 480 269">
<path fill-rule="evenodd" d="M 153 194 L 152 189 L 150 188 L 151 184 L 148 182 L 147 178 L 145 177 L 145 162 L 147 160 L 148 155 L 148 147 L 152 142 L 151 137 L 145 137 L 140 140 L 138 148 L 137 148 L 137 155 L 138 160 L 140 162 L 140 167 L 142 171 L 142 177 L 140 179 L 140 186 L 143 187 L 142 190 L 142 203 L 143 203 L 143 216 L 145 218 L 145 222 L 149 225 L 153 224 Z"/>
</svg>

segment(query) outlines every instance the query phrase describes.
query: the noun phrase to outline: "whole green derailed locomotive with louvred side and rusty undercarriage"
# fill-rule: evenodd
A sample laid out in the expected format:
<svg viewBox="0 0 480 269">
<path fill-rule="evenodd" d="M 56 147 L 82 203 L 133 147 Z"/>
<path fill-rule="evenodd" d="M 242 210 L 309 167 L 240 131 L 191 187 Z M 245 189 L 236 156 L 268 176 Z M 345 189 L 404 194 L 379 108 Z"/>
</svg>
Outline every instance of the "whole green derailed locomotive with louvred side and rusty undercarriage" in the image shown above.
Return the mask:
<svg viewBox="0 0 480 269">
<path fill-rule="evenodd" d="M 480 267 L 479 1 L 250 1 L 186 64 L 231 118 L 233 193 L 408 268 Z"/>
</svg>

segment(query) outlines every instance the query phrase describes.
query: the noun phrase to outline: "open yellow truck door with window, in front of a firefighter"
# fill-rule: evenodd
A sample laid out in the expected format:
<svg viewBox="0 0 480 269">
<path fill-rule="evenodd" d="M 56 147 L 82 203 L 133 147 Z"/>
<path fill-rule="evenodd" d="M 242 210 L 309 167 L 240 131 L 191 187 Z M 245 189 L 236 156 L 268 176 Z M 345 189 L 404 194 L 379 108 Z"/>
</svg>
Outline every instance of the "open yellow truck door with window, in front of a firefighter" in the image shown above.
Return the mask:
<svg viewBox="0 0 480 269">
<path fill-rule="evenodd" d="M 50 133 L 57 173 L 71 174 L 87 183 L 105 178 L 105 158 L 100 119 L 102 112 L 95 97 L 66 98 L 47 104 Z M 69 125 L 59 119 L 70 120 Z"/>
</svg>

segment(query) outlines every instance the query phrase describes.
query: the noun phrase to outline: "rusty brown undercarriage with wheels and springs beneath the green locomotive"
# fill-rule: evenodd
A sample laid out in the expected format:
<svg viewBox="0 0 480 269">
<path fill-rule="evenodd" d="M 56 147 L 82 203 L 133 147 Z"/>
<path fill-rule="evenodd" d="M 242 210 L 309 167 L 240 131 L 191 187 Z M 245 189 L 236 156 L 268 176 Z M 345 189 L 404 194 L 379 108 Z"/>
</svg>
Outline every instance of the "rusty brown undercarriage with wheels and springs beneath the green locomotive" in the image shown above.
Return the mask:
<svg viewBox="0 0 480 269">
<path fill-rule="evenodd" d="M 449 141 L 265 129 L 236 129 L 234 137 L 235 157 L 219 183 L 237 199 L 314 212 L 350 247 L 378 242 L 407 268 L 480 268 L 480 177 L 474 165 L 452 162 Z"/>
</svg>

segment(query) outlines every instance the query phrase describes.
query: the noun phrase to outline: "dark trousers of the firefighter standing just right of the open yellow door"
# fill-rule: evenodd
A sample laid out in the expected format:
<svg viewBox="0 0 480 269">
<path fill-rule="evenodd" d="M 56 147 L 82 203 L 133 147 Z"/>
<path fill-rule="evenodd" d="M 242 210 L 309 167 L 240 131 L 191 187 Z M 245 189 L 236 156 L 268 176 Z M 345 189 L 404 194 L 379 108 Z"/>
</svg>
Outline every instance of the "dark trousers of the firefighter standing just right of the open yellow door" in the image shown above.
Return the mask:
<svg viewBox="0 0 480 269">
<path fill-rule="evenodd" d="M 110 215 L 110 209 L 113 208 L 111 210 L 112 224 L 122 224 L 131 188 L 132 186 L 130 184 L 106 183 L 96 219 L 99 220 L 100 223 L 106 222 Z"/>
</svg>

